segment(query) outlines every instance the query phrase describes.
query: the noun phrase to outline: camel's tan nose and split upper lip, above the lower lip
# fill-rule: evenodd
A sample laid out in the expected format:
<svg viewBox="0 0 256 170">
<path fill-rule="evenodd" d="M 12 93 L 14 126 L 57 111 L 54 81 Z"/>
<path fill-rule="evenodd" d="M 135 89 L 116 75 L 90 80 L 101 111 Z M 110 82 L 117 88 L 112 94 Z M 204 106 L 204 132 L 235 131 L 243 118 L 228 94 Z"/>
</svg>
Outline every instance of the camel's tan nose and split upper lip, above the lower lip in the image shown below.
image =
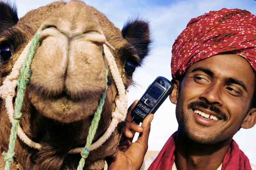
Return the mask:
<svg viewBox="0 0 256 170">
<path fill-rule="evenodd" d="M 50 14 L 41 25 L 39 40 L 31 84 L 42 89 L 40 93 L 58 97 L 64 92 L 77 100 L 103 93 L 106 66 L 102 53 L 107 41 L 89 6 L 71 0 Z"/>
</svg>

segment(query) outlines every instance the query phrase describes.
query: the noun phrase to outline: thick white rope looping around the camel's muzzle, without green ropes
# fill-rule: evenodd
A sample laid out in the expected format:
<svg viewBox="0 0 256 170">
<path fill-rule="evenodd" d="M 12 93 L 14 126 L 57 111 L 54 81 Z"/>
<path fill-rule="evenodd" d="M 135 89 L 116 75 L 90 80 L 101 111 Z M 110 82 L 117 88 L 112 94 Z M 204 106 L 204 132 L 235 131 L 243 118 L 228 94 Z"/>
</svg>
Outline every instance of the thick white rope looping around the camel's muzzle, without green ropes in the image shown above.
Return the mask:
<svg viewBox="0 0 256 170">
<path fill-rule="evenodd" d="M 13 107 L 13 97 L 15 96 L 15 88 L 17 86 L 17 79 L 20 75 L 20 68 L 23 65 L 23 62 L 25 61 L 26 54 L 28 53 L 29 47 L 31 45 L 31 41 L 26 45 L 23 52 L 20 54 L 19 58 L 15 62 L 15 65 L 12 68 L 12 72 L 9 76 L 6 77 L 6 79 L 3 82 L 3 85 L 0 87 L 0 97 L 6 100 L 6 109 L 7 113 L 9 115 L 10 122 L 13 122 L 12 114 L 14 112 Z M 101 136 L 95 143 L 93 143 L 90 146 L 90 150 L 95 150 L 96 148 L 102 146 L 104 142 L 106 142 L 109 137 L 112 135 L 113 131 L 116 129 L 119 122 L 122 122 L 125 120 L 126 114 L 127 114 L 127 96 L 125 93 L 125 86 L 122 81 L 122 77 L 119 73 L 118 67 L 116 65 L 115 59 L 111 53 L 111 51 L 108 49 L 107 45 L 104 44 L 104 53 L 105 58 L 107 59 L 109 69 L 111 71 L 112 77 L 115 81 L 116 88 L 118 91 L 118 96 L 116 97 L 116 109 L 112 113 L 112 120 L 111 123 L 106 130 L 106 132 Z M 29 139 L 28 136 L 23 132 L 20 125 L 18 126 L 18 132 L 17 135 L 19 138 L 27 144 L 29 147 L 33 147 L 35 149 L 40 150 L 41 144 L 38 144 L 36 142 L 33 142 L 31 139 Z M 70 150 L 69 153 L 81 153 L 81 150 L 83 150 L 84 147 L 77 147 L 73 150 Z"/>
</svg>

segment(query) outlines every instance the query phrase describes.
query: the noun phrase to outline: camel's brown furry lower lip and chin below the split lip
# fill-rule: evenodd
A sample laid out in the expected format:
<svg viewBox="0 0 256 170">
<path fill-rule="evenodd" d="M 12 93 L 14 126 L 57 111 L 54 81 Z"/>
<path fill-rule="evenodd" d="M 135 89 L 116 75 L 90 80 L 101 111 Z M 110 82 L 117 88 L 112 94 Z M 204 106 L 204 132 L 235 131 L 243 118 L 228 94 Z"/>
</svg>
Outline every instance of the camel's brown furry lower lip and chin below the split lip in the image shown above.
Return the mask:
<svg viewBox="0 0 256 170">
<path fill-rule="evenodd" d="M 103 91 L 93 92 L 90 95 L 71 96 L 65 92 L 56 96 L 47 96 L 38 93 L 29 85 L 28 97 L 39 113 L 58 122 L 76 122 L 94 114 Z"/>
</svg>

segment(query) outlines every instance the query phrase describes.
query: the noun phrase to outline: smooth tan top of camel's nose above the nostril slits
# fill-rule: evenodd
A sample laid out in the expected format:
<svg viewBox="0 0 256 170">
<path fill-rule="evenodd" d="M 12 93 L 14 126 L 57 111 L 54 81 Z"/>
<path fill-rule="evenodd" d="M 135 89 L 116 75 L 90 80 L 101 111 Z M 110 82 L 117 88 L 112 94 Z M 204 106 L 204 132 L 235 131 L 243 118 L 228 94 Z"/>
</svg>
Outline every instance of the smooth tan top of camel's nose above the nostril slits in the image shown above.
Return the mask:
<svg viewBox="0 0 256 170">
<path fill-rule="evenodd" d="M 90 31 L 104 35 L 98 19 L 89 7 L 79 0 L 71 0 L 63 8 L 49 15 L 42 23 L 42 30 L 57 28 L 67 38 L 73 38 Z"/>
</svg>

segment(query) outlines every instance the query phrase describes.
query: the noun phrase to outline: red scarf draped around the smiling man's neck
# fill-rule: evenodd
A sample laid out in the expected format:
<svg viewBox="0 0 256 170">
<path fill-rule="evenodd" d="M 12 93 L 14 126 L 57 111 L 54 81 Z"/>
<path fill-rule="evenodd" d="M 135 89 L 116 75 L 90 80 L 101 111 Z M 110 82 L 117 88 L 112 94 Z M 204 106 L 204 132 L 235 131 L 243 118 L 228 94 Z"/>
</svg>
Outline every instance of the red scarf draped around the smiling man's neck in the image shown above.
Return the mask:
<svg viewBox="0 0 256 170">
<path fill-rule="evenodd" d="M 175 162 L 176 133 L 173 133 L 168 139 L 148 170 L 172 170 Z M 232 140 L 230 148 L 224 156 L 221 170 L 252 170 L 249 159 L 239 149 L 238 144 L 234 140 Z"/>
</svg>

